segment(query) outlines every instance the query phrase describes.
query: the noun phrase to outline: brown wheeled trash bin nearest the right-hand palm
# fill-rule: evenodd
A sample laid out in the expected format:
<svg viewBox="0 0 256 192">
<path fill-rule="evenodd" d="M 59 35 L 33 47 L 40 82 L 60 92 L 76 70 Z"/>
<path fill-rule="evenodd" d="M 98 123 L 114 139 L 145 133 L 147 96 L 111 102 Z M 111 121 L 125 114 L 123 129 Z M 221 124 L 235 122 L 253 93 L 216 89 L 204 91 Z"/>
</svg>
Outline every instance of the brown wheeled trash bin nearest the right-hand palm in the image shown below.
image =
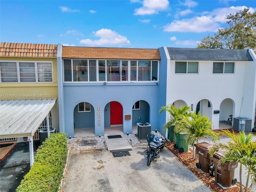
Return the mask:
<svg viewBox="0 0 256 192">
<path fill-rule="evenodd" d="M 238 162 L 226 162 L 218 165 L 218 161 L 222 158 L 223 152 L 215 152 L 211 158 L 214 164 L 215 182 L 221 184 L 223 187 L 231 187 L 236 184 L 237 179 L 234 178 L 235 168 Z"/>
</svg>

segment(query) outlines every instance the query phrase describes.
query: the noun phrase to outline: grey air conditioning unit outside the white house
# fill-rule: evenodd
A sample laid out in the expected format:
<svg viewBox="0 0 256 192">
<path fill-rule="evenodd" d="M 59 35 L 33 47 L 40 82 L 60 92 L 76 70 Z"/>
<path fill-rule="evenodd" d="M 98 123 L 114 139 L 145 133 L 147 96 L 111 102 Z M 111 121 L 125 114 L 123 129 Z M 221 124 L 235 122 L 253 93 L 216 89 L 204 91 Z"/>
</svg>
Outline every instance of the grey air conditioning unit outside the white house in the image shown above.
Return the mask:
<svg viewBox="0 0 256 192">
<path fill-rule="evenodd" d="M 233 129 L 237 131 L 251 132 L 252 120 L 246 117 L 234 117 Z"/>
</svg>

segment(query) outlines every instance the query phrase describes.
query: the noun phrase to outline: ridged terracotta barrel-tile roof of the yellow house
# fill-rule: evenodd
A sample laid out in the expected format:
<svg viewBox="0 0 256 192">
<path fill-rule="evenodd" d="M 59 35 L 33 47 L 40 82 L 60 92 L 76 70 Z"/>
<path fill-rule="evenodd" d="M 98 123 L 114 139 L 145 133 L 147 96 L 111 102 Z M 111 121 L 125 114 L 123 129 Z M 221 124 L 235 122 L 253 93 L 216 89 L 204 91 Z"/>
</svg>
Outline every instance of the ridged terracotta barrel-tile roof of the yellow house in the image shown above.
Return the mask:
<svg viewBox="0 0 256 192">
<path fill-rule="evenodd" d="M 4 56 L 4 57 L 57 57 L 57 44 L 0 42 L 0 56 Z"/>
</svg>

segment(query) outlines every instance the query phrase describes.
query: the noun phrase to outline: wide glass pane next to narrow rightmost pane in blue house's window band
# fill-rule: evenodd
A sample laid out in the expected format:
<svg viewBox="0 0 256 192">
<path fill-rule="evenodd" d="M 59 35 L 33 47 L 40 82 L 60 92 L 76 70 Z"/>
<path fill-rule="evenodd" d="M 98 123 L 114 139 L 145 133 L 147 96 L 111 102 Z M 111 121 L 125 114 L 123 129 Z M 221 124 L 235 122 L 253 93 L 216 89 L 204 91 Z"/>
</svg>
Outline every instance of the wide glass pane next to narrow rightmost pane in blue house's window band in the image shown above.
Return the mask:
<svg viewBox="0 0 256 192">
<path fill-rule="evenodd" d="M 138 61 L 138 80 L 150 81 L 151 61 Z"/>
</svg>

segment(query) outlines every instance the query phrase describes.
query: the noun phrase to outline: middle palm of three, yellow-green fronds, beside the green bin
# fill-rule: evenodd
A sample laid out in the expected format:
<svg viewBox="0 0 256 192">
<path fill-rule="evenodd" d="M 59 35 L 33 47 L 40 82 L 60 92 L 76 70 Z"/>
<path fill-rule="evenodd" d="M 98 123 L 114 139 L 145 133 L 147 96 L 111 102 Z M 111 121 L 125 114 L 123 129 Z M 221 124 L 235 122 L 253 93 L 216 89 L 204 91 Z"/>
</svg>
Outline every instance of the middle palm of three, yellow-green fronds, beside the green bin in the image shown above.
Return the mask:
<svg viewBox="0 0 256 192">
<path fill-rule="evenodd" d="M 187 142 L 193 148 L 193 158 L 195 157 L 195 146 L 198 140 L 203 136 L 212 138 L 212 142 L 216 142 L 219 136 L 216 132 L 212 131 L 212 122 L 209 121 L 207 116 L 202 116 L 200 112 L 191 114 L 191 117 L 184 116 L 180 122 L 178 122 L 178 128 L 180 131 L 187 132 Z M 175 130 L 175 129 L 174 129 Z"/>
</svg>

